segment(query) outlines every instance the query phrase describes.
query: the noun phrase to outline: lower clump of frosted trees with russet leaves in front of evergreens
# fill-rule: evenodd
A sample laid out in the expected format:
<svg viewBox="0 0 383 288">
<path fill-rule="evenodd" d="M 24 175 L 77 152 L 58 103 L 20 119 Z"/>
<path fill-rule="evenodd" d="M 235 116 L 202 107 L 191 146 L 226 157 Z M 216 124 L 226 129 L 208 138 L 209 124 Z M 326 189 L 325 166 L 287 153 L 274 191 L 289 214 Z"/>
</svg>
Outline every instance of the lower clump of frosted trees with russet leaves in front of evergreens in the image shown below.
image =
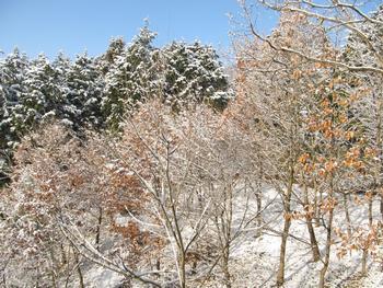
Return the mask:
<svg viewBox="0 0 383 288">
<path fill-rule="evenodd" d="M 230 287 L 231 246 L 260 212 L 234 218 L 239 199 L 254 193 L 235 126 L 222 127 L 208 106 L 174 113 L 153 100 L 120 139 L 84 137 L 49 125 L 19 146 L 1 206 L 4 283 L 84 287 L 101 265 L 127 284 L 187 287 L 220 277 Z"/>
</svg>

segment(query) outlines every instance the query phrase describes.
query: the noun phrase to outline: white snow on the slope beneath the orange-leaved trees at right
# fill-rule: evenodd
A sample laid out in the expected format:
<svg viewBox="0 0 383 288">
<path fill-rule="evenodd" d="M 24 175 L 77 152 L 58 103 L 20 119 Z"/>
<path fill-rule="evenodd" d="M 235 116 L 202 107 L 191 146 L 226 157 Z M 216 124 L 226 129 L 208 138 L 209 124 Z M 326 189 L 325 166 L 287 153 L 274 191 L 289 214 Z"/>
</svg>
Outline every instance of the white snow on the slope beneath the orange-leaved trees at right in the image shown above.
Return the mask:
<svg viewBox="0 0 383 288">
<path fill-rule="evenodd" d="M 268 195 L 268 201 L 277 196 L 272 189 L 264 192 Z M 278 197 L 278 196 L 277 196 Z M 278 203 L 269 207 L 269 211 L 264 212 L 264 221 L 276 217 L 272 212 Z M 353 221 L 367 221 L 365 211 L 361 207 L 350 207 Z M 374 212 L 379 212 L 379 203 L 374 204 Z M 232 252 L 232 263 L 234 275 L 233 287 L 274 287 L 276 281 L 276 270 L 279 261 L 280 237 L 274 231 L 281 231 L 282 217 L 277 216 L 278 221 L 272 221 L 266 227 L 259 238 L 255 233 L 246 233 L 241 239 L 235 250 Z M 335 215 L 335 226 L 344 223 L 344 211 L 338 209 Z M 323 227 L 314 227 L 318 243 L 324 243 L 326 232 Z M 293 220 L 290 234 L 298 239 L 310 241 L 306 226 L 299 220 Z M 327 274 L 328 287 L 383 287 L 383 273 L 378 263 L 370 262 L 370 272 L 367 277 L 360 277 L 361 253 L 353 252 L 344 258 L 336 256 L 339 242 L 332 247 L 330 266 Z M 313 263 L 310 246 L 299 240 L 289 238 L 286 265 L 286 284 L 285 287 L 316 287 L 320 270 L 323 266 L 321 262 Z M 322 251 L 323 253 L 323 251 Z M 349 286 L 355 285 L 355 286 Z"/>
</svg>

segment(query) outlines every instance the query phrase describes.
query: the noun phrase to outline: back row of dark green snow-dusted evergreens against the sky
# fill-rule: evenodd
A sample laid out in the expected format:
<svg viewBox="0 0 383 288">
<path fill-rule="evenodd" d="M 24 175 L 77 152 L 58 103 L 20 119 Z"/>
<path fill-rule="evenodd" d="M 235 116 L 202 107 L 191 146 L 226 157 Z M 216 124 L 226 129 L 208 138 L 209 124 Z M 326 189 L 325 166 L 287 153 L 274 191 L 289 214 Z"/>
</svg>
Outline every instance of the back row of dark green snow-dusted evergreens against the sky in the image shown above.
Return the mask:
<svg viewBox="0 0 383 288">
<path fill-rule="evenodd" d="M 0 60 L 1 177 L 23 135 L 53 119 L 74 130 L 121 130 L 127 113 L 149 99 L 175 108 L 209 103 L 223 110 L 233 94 L 211 46 L 172 43 L 153 46 L 146 25 L 126 45 L 112 39 L 100 57 L 59 54 L 28 59 L 19 49 Z"/>
</svg>

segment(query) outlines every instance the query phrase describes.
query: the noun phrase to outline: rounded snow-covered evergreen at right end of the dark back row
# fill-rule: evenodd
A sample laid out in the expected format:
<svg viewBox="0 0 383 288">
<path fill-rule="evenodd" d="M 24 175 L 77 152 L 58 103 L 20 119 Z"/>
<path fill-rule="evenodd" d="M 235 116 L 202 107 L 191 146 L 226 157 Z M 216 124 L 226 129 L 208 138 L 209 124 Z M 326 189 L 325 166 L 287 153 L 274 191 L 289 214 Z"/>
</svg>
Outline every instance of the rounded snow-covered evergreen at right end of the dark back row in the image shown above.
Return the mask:
<svg viewBox="0 0 383 288">
<path fill-rule="evenodd" d="M 164 96 L 175 105 L 209 103 L 222 110 L 233 96 L 228 76 L 211 46 L 174 42 L 163 49 L 165 61 Z"/>
</svg>

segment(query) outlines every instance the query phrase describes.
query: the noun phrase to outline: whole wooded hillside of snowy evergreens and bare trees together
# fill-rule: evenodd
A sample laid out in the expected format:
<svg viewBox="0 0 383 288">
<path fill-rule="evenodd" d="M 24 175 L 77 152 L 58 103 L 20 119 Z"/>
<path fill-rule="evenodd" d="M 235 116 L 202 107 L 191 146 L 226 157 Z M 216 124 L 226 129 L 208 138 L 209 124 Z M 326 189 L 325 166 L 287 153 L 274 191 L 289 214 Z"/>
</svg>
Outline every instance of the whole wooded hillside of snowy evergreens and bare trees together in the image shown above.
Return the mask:
<svg viewBox="0 0 383 288">
<path fill-rule="evenodd" d="M 96 59 L 3 60 L 1 145 L 20 141 L 1 191 L 5 287 L 85 287 L 97 267 L 126 286 L 294 286 L 294 254 L 322 288 L 351 253 L 352 280 L 382 265 L 382 8 L 263 0 L 280 13 L 264 37 L 242 4 L 230 102 L 211 47 L 159 49 L 147 27 Z"/>
</svg>

